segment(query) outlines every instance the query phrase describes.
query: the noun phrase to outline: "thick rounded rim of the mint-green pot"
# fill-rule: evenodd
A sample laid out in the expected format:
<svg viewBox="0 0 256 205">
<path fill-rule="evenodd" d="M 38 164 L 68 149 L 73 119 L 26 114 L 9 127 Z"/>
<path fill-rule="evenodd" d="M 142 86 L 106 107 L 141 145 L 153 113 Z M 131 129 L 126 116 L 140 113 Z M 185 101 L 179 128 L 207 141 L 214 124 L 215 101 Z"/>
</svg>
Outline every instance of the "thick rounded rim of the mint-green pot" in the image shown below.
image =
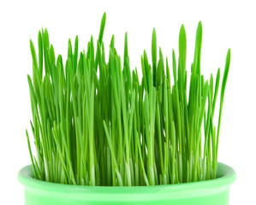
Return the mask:
<svg viewBox="0 0 256 205">
<path fill-rule="evenodd" d="M 236 178 L 235 170 L 221 162 L 217 163 L 217 179 L 189 182 L 176 185 L 153 186 L 88 186 L 88 185 L 63 185 L 33 179 L 32 165 L 21 168 L 18 180 L 24 185 L 25 190 L 47 196 L 74 197 L 86 200 L 115 200 L 123 198 L 132 201 L 175 199 L 184 197 L 207 196 L 229 190 Z"/>
</svg>

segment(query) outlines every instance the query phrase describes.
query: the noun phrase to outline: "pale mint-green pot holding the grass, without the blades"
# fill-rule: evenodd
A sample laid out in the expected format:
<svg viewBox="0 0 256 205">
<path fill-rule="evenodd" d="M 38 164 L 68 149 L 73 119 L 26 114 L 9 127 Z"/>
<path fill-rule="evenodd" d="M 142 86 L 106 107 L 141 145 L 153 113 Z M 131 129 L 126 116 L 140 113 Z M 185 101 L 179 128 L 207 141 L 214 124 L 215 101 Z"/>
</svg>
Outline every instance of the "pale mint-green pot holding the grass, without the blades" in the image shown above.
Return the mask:
<svg viewBox="0 0 256 205">
<path fill-rule="evenodd" d="M 33 179 L 32 166 L 23 167 L 18 179 L 25 187 L 26 205 L 154 204 L 227 205 L 233 168 L 218 163 L 217 179 L 156 186 L 61 185 Z"/>
</svg>

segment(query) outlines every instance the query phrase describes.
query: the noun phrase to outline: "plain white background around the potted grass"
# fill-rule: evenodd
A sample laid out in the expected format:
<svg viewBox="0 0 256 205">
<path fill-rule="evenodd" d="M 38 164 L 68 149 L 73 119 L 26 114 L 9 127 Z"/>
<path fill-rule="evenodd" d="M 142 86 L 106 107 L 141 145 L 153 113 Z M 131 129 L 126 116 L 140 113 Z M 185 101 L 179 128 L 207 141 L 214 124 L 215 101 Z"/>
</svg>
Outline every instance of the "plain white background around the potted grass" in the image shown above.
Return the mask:
<svg viewBox="0 0 256 205">
<path fill-rule="evenodd" d="M 128 32 L 131 67 L 140 70 L 140 55 L 151 56 L 152 28 L 164 56 L 171 62 L 171 49 L 178 52 L 178 34 L 185 25 L 188 70 L 193 60 L 195 31 L 203 24 L 202 73 L 209 77 L 223 67 L 231 48 L 226 87 L 219 161 L 235 168 L 237 179 L 230 189 L 230 204 L 256 204 L 256 7 L 253 1 L 1 1 L 0 3 L 0 204 L 23 204 L 23 187 L 16 178 L 30 163 L 25 129 L 31 119 L 27 73 L 32 74 L 29 39 L 37 45 L 41 27 L 47 27 L 56 53 L 67 56 L 68 38 L 77 34 L 80 50 L 92 34 L 98 38 L 104 11 L 107 14 L 104 44 L 112 34 L 123 55 Z M 37 48 L 37 46 L 36 46 Z"/>
</svg>

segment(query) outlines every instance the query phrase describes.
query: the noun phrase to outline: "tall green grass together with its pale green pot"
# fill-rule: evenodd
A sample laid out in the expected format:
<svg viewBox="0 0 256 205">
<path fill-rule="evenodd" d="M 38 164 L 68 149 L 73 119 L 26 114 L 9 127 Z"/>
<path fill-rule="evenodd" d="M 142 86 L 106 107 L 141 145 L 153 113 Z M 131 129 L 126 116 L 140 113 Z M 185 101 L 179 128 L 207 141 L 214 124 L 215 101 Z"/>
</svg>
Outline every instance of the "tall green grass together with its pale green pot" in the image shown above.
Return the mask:
<svg viewBox="0 0 256 205">
<path fill-rule="evenodd" d="M 235 171 L 217 162 L 217 149 L 230 50 L 216 127 L 221 74 L 215 80 L 201 74 L 201 22 L 190 75 L 182 26 L 172 69 L 153 29 L 152 63 L 144 51 L 140 79 L 137 68 L 130 70 L 127 33 L 123 59 L 113 36 L 105 60 L 105 18 L 97 44 L 91 38 L 86 51 L 78 52 L 77 37 L 74 50 L 68 40 L 65 62 L 55 56 L 47 29 L 39 31 L 39 58 L 30 42 L 36 156 L 27 132 L 32 165 L 18 174 L 26 204 L 228 204 Z"/>
</svg>

